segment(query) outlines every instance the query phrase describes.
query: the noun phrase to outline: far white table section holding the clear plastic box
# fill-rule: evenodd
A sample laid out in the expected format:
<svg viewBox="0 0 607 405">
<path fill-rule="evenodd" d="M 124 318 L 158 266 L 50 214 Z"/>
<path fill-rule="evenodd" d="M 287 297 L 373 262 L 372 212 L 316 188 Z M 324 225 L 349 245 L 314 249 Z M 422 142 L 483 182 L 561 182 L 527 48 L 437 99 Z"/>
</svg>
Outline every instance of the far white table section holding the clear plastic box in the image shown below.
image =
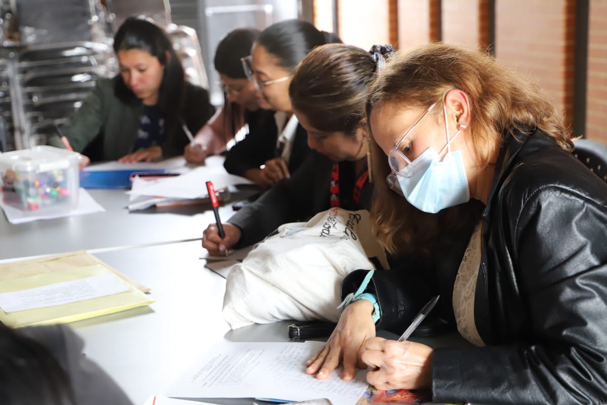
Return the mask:
<svg viewBox="0 0 607 405">
<path fill-rule="evenodd" d="M 126 208 L 124 190 L 89 190 L 106 209 L 105 213 L 12 225 L 0 213 L 0 261 L 15 257 L 39 256 L 74 250 L 110 250 L 158 243 L 202 239 L 202 232 L 215 222 L 210 205 L 175 208 Z M 220 206 L 222 220 L 234 214 L 231 204 L 255 192 L 245 188 L 232 193 L 230 202 Z"/>
</svg>

